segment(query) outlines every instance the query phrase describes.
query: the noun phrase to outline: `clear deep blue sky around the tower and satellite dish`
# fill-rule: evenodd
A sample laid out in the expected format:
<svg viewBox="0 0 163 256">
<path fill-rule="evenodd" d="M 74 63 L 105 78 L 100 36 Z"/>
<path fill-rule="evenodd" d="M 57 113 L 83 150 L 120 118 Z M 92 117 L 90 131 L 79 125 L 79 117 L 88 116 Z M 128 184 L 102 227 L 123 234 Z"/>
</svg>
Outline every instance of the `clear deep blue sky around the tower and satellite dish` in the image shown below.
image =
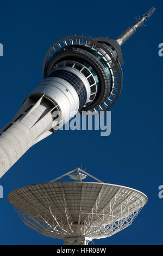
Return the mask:
<svg viewBox="0 0 163 256">
<path fill-rule="evenodd" d="M 67 35 L 116 39 L 135 16 L 158 8 L 122 46 L 124 86 L 111 109 L 111 135 L 98 131 L 58 131 L 31 148 L 5 174 L 0 184 L 1 245 L 61 245 L 21 222 L 8 194 L 28 184 L 47 182 L 83 163 L 86 171 L 106 183 L 121 184 L 147 194 L 148 203 L 134 223 L 96 245 L 162 244 L 162 1 L 1 1 L 1 123 L 3 128 L 23 100 L 42 80 L 46 51 Z"/>
</svg>

